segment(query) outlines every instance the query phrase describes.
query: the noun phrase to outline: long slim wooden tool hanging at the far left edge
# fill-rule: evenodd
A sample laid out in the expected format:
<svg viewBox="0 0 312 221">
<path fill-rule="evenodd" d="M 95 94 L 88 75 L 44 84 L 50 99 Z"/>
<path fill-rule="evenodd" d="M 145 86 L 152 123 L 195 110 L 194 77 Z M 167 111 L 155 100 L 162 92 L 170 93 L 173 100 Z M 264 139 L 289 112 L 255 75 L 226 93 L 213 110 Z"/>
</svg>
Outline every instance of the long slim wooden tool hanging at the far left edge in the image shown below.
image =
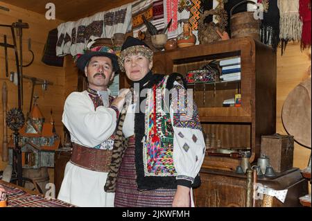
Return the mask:
<svg viewBox="0 0 312 221">
<path fill-rule="evenodd" d="M 8 87 L 3 81 L 2 85 L 2 111 L 3 111 L 3 139 L 2 139 L 2 161 L 8 161 L 8 136 L 6 128 L 6 108 L 8 105 Z"/>
</svg>

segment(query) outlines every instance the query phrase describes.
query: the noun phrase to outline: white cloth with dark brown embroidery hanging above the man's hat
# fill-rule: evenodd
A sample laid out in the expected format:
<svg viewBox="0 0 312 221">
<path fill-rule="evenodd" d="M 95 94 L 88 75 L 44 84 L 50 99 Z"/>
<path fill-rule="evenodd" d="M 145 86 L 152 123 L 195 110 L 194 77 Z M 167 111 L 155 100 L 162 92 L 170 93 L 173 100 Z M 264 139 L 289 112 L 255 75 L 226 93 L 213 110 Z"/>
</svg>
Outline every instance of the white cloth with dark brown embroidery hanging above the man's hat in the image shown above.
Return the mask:
<svg viewBox="0 0 312 221">
<path fill-rule="evenodd" d="M 56 55 L 76 55 L 83 53 L 89 40 L 100 37 L 112 37 L 114 33 L 126 33 L 131 30 L 132 4 L 113 8 L 107 12 L 98 12 L 91 17 L 78 21 L 68 21 L 58 26 Z"/>
</svg>

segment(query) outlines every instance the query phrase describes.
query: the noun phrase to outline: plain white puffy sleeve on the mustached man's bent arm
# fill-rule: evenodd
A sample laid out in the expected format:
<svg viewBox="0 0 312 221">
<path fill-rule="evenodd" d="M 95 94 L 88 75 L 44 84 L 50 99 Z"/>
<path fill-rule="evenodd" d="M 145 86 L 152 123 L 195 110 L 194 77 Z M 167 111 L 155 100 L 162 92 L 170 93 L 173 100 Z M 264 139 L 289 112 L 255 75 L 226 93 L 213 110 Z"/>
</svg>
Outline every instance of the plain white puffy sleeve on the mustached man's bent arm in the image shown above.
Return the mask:
<svg viewBox="0 0 312 221">
<path fill-rule="evenodd" d="M 65 101 L 62 123 L 75 140 L 93 148 L 114 133 L 116 112 L 103 106 L 94 109 L 92 100 L 83 94 L 73 92 Z"/>
</svg>

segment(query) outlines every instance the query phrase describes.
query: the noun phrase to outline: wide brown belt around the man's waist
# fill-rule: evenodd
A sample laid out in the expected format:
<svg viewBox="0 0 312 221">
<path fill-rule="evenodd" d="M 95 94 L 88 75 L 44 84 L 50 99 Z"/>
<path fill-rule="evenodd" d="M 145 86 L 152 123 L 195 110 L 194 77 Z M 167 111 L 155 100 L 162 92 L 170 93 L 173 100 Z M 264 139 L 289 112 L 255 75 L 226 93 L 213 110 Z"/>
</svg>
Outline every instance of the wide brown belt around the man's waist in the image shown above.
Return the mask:
<svg viewBox="0 0 312 221">
<path fill-rule="evenodd" d="M 94 170 L 97 172 L 109 172 L 112 150 L 100 150 L 87 148 L 83 145 L 73 143 L 73 153 L 71 163 L 81 168 Z"/>
</svg>

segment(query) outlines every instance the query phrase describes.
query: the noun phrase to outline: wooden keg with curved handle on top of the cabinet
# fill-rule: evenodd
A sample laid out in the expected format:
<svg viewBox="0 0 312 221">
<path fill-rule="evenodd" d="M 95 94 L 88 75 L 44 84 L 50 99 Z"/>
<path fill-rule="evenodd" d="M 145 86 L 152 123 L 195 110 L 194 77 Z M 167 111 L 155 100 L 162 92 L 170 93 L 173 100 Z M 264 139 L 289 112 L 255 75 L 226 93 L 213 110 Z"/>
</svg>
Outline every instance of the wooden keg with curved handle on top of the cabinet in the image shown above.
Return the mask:
<svg viewBox="0 0 312 221">
<path fill-rule="evenodd" d="M 235 8 L 243 3 L 254 3 L 254 1 L 241 1 L 231 9 L 229 13 L 231 38 L 252 37 L 259 41 L 261 19 L 254 19 L 254 12 L 239 12 L 232 15 Z"/>
</svg>

